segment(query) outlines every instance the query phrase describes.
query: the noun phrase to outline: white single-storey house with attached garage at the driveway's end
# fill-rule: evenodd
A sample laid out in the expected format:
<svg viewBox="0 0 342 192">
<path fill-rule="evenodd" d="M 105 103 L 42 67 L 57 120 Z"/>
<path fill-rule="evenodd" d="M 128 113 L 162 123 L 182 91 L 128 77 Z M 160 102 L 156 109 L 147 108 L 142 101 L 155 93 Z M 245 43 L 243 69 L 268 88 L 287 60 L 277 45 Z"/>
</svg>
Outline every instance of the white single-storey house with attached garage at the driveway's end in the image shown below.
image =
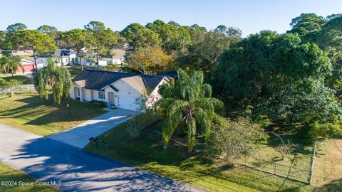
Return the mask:
<svg viewBox="0 0 342 192">
<path fill-rule="evenodd" d="M 105 70 L 83 70 L 73 78 L 70 91 L 72 99 L 103 101 L 108 106 L 126 110 L 138 110 L 136 102 L 147 93 L 146 107 L 160 99 L 158 89 L 169 80 L 165 76 L 120 73 Z"/>
</svg>

